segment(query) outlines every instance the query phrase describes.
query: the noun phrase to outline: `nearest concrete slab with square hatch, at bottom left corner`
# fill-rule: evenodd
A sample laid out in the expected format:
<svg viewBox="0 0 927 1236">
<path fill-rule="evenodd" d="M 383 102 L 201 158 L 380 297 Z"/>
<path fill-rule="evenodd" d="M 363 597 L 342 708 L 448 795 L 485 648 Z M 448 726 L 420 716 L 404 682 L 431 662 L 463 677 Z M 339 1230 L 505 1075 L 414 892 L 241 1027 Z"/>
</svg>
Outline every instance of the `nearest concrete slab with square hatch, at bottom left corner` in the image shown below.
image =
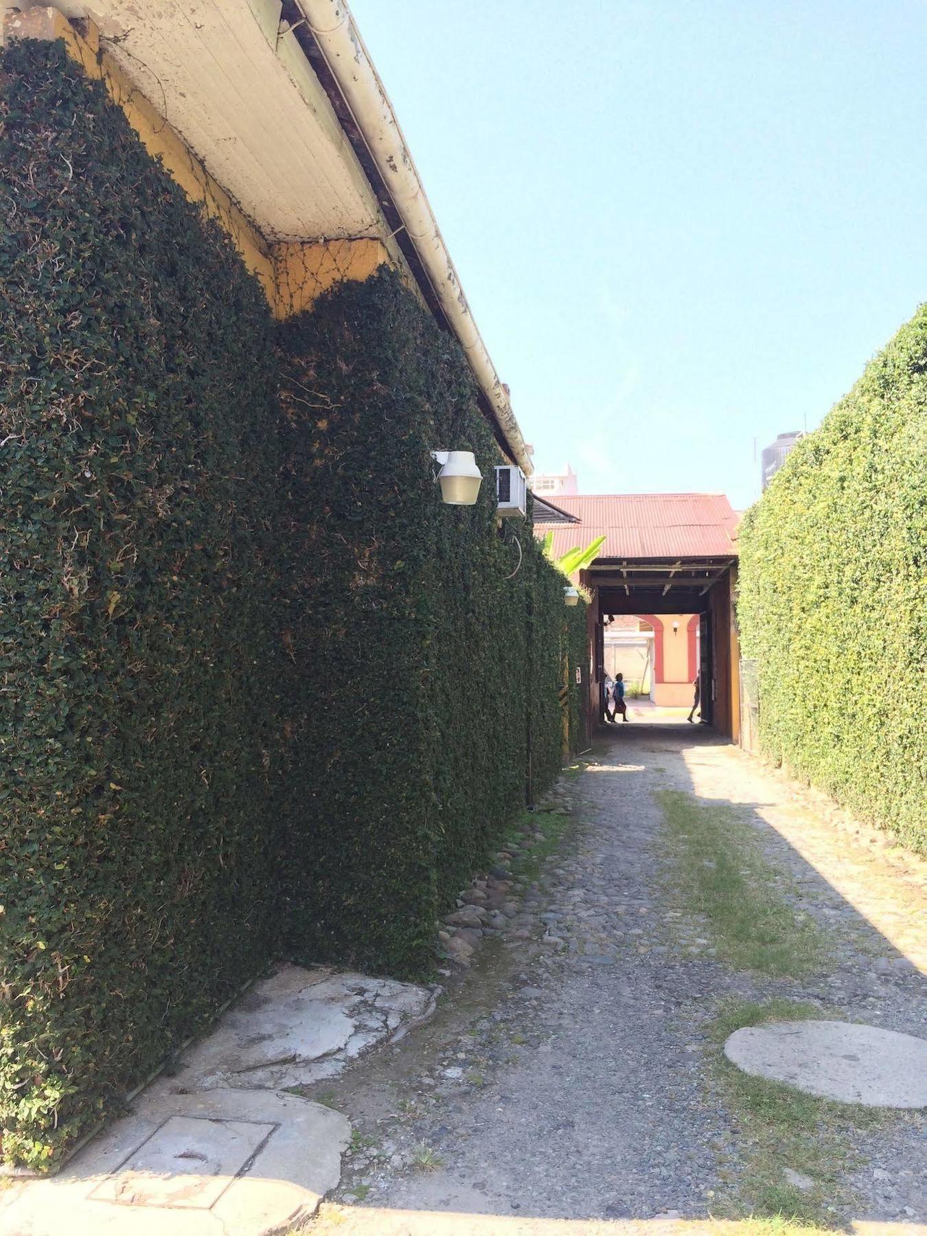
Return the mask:
<svg viewBox="0 0 927 1236">
<path fill-rule="evenodd" d="M 345 1116 L 272 1090 L 152 1085 L 46 1180 L 7 1190 L 5 1236 L 266 1236 L 315 1214 L 341 1175 Z"/>
</svg>

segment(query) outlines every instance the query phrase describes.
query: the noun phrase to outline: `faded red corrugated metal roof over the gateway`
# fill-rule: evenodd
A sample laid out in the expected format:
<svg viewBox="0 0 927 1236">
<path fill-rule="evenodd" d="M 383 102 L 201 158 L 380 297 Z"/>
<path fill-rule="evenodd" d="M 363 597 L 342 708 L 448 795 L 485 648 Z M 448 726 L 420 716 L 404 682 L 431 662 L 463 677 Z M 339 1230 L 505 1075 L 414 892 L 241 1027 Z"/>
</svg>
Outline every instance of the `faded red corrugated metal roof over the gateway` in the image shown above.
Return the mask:
<svg viewBox="0 0 927 1236">
<path fill-rule="evenodd" d="M 606 543 L 599 557 L 733 557 L 738 514 L 723 493 L 557 494 L 557 506 L 578 524 L 535 527 L 554 533 L 554 552 Z"/>
</svg>

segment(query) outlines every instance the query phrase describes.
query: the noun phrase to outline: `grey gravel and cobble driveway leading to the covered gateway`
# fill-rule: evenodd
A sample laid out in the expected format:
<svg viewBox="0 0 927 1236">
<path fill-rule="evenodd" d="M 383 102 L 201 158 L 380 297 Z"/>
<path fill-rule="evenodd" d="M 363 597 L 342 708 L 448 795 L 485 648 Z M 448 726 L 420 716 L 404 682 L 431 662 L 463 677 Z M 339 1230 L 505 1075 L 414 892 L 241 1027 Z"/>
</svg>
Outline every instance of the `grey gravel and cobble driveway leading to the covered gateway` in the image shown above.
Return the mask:
<svg viewBox="0 0 927 1236">
<path fill-rule="evenodd" d="M 737 1213 L 747 1157 L 705 1030 L 726 997 L 811 1000 L 925 1036 L 923 980 L 904 955 L 923 955 L 925 864 L 707 729 L 624 726 L 593 760 L 554 798 L 571 815 L 539 881 L 509 887 L 499 869 L 478 886 L 496 929 L 461 926 L 472 964 L 451 967 L 435 1020 L 334 1090 L 307 1091 L 356 1130 L 318 1231 L 383 1232 L 384 1213 L 407 1210 L 493 1215 L 499 1230 L 514 1216 L 525 1234 Z M 822 974 L 776 980 L 714 959 L 667 887 L 659 789 L 732 802 L 756 826 L 796 910 L 828 933 Z M 912 1115 L 860 1133 L 865 1166 L 834 1219 L 907 1231 L 927 1219 L 922 1137 Z"/>
</svg>

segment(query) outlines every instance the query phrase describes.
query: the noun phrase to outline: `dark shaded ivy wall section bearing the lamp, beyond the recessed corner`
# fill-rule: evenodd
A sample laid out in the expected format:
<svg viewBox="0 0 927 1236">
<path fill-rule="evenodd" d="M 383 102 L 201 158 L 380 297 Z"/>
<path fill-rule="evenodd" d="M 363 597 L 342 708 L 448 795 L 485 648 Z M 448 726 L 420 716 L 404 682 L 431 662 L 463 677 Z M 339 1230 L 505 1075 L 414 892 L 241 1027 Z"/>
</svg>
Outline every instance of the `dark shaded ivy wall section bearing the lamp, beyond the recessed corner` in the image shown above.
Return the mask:
<svg viewBox="0 0 927 1236">
<path fill-rule="evenodd" d="M 529 713 L 535 791 L 560 769 L 566 581 L 530 523 L 497 530 L 472 377 L 394 273 L 324 297 L 281 347 L 294 747 L 311 782 L 290 949 L 417 974 L 436 915 L 524 806 Z M 430 451 L 451 446 L 476 452 L 475 507 L 441 504 Z"/>
</svg>

